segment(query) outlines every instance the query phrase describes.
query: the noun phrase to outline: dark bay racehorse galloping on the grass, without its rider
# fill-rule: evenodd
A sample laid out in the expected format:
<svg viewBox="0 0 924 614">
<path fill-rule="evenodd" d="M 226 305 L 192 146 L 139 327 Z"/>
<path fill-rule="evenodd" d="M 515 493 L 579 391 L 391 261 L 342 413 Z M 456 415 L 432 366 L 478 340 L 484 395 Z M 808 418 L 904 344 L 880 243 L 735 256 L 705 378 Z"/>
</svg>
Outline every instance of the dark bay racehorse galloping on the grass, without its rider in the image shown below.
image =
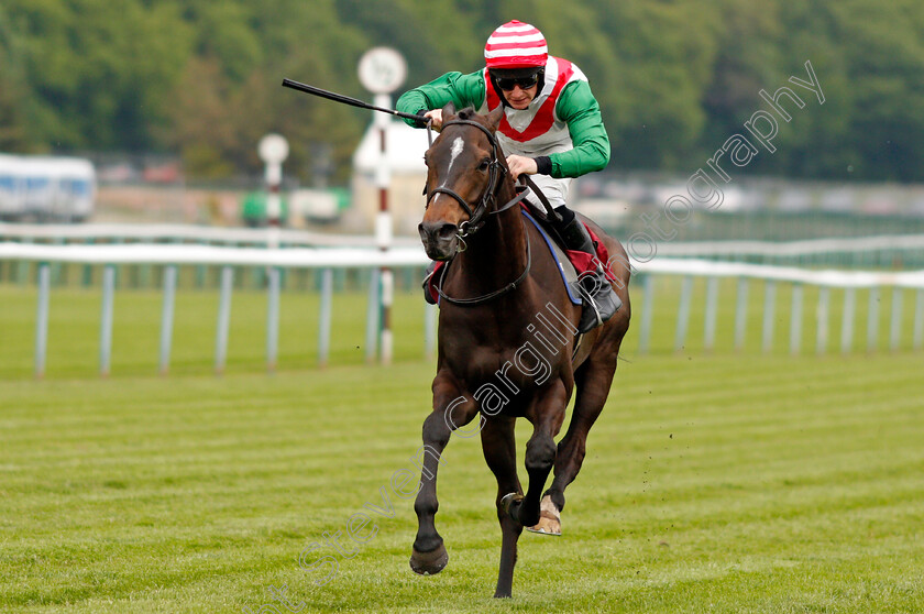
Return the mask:
<svg viewBox="0 0 924 614">
<path fill-rule="evenodd" d="M 433 522 L 437 470 L 450 435 L 477 416 L 479 427 L 458 434 L 480 431 L 484 458 L 497 479 L 503 542 L 496 597 L 510 596 L 522 528 L 560 530 L 564 490 L 581 469 L 587 431 L 609 394 L 629 327 L 626 252 L 588 222 L 609 251 L 623 307 L 584 335 L 575 352 L 581 306 L 571 303 L 543 240 L 524 221 L 495 140 L 502 113 L 503 108 L 488 116 L 471 109 L 455 114 L 448 105 L 441 133 L 425 156 L 427 210 L 420 238 L 430 259 L 451 263 L 440 290 L 433 412 L 424 421 L 424 467 L 414 505 L 418 531 L 410 558 L 411 569 L 422 574 L 438 573 L 448 562 Z M 568 432 L 556 446 L 575 388 Z M 532 424 L 525 496 L 516 469 L 517 418 Z M 552 469 L 554 479 L 542 496 Z"/>
</svg>

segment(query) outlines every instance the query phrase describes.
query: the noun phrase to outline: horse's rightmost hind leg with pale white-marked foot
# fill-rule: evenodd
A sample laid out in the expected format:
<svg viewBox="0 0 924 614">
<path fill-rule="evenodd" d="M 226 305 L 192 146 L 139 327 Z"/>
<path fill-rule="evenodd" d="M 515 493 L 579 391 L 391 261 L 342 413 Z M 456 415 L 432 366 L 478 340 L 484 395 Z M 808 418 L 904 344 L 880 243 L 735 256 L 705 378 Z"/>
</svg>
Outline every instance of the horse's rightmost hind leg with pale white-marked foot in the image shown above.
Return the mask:
<svg viewBox="0 0 924 614">
<path fill-rule="evenodd" d="M 612 359 L 605 357 L 603 360 L 588 360 L 574 374 L 576 396 L 574 399 L 574 413 L 568 432 L 559 441 L 558 454 L 556 456 L 556 472 L 552 485 L 546 491 L 542 497 L 543 512 L 547 507 L 554 506 L 543 514 L 538 525 L 539 530 L 553 535 L 561 534 L 561 524 L 558 514 L 564 509 L 564 489 L 574 481 L 581 464 L 584 462 L 587 434 L 596 421 L 606 397 L 609 395 L 609 386 L 616 373 L 616 355 L 613 352 Z M 551 515 L 556 518 L 548 518 Z"/>
</svg>

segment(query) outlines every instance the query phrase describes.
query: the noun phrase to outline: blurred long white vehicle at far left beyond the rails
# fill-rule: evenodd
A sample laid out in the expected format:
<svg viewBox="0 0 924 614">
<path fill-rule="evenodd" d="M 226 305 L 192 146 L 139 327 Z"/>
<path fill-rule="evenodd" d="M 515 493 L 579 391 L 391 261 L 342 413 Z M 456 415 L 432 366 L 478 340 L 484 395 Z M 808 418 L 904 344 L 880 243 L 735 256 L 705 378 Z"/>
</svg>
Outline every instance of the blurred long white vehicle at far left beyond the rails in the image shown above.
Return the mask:
<svg viewBox="0 0 924 614">
<path fill-rule="evenodd" d="M 96 190 L 88 160 L 0 154 L 0 219 L 84 221 Z"/>
</svg>

